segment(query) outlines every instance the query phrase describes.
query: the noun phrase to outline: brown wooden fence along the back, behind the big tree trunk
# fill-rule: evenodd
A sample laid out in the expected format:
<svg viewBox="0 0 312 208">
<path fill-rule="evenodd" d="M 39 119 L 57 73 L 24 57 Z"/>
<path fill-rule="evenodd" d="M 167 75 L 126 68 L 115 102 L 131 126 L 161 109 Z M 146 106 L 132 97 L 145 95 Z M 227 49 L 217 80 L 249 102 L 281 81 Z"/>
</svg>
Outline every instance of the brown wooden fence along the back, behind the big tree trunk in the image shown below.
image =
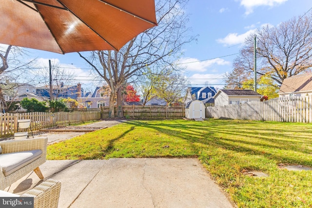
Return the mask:
<svg viewBox="0 0 312 208">
<path fill-rule="evenodd" d="M 123 116 L 126 118 L 181 118 L 185 117 L 185 108 L 183 106 L 168 107 L 168 106 L 122 106 Z M 109 107 L 102 107 L 102 119 L 109 117 Z M 117 108 L 115 107 L 115 113 Z"/>
</svg>

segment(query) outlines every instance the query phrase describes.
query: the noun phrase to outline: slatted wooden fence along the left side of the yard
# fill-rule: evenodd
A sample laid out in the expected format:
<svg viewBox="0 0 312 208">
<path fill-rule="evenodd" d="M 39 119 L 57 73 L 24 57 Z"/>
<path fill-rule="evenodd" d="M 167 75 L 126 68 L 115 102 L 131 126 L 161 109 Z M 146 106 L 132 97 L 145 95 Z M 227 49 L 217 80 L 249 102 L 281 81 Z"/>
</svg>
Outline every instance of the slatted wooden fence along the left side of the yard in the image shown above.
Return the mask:
<svg viewBox="0 0 312 208">
<path fill-rule="evenodd" d="M 19 119 L 30 119 L 33 131 L 53 127 L 75 125 L 84 121 L 99 120 L 100 111 L 74 111 L 58 113 L 0 113 L 0 136 L 17 132 Z"/>
</svg>

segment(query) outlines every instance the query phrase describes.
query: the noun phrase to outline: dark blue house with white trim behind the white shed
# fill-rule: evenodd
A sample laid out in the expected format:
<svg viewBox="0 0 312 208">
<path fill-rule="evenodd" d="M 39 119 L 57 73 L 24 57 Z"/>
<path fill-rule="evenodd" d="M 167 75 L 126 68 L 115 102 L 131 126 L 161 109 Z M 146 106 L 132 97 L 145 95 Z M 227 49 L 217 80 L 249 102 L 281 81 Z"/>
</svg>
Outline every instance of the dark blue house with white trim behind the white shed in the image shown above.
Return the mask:
<svg viewBox="0 0 312 208">
<path fill-rule="evenodd" d="M 192 100 L 201 100 L 204 104 L 213 102 L 213 97 L 216 94 L 214 87 L 190 87 L 187 90 L 185 103 Z"/>
</svg>

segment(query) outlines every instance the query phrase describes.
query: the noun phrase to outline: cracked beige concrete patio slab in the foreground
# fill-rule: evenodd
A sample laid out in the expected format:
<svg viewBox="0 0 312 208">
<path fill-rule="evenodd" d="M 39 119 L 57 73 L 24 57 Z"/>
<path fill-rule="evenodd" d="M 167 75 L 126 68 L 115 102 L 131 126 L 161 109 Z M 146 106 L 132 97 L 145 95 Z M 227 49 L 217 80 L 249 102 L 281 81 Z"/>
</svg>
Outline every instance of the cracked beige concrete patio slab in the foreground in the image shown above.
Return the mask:
<svg viewBox="0 0 312 208">
<path fill-rule="evenodd" d="M 196 158 L 49 160 L 45 179 L 61 181 L 59 208 L 232 208 Z M 42 181 L 34 172 L 6 188 L 21 194 Z"/>
</svg>

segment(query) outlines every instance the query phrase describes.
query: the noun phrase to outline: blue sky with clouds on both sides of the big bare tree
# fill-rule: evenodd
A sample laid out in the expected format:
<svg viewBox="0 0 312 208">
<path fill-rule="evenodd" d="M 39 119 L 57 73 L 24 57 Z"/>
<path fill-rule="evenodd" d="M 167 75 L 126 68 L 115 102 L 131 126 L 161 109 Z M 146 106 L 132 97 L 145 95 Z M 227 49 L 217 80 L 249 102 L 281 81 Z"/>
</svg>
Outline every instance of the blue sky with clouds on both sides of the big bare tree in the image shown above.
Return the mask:
<svg viewBox="0 0 312 208">
<path fill-rule="evenodd" d="M 181 63 L 186 63 L 185 76 L 192 86 L 222 88 L 224 73 L 232 71 L 232 61 L 243 46 L 246 36 L 262 25 L 278 25 L 312 8 L 312 0 L 190 0 L 185 11 L 189 14 L 190 35 L 197 42 L 184 48 Z M 312 9 L 310 10 L 312 12 Z M 77 53 L 59 55 L 30 50 L 32 56 L 48 65 L 48 59 L 72 70 L 84 88 L 92 88 L 88 66 Z M 232 55 L 232 56 L 231 56 Z"/>
</svg>

